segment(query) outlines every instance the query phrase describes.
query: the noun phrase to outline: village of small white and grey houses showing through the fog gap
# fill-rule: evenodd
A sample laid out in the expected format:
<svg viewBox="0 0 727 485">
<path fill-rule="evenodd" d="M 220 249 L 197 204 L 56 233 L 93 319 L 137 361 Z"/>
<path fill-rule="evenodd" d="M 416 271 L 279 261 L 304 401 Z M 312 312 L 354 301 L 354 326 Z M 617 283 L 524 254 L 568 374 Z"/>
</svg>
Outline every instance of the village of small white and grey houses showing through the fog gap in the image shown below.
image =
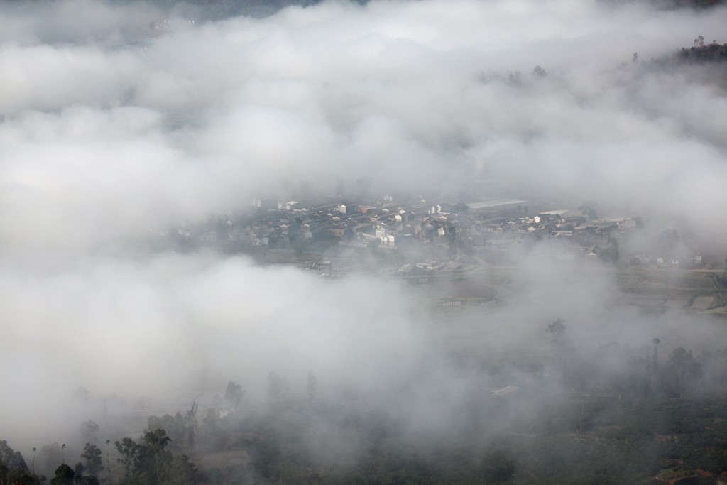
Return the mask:
<svg viewBox="0 0 727 485">
<path fill-rule="evenodd" d="M 516 201 L 521 202 L 521 201 Z M 492 264 L 517 262 L 535 241 L 547 241 L 555 260 L 598 260 L 613 251 L 614 241 L 635 230 L 638 219 L 587 220 L 568 210 L 531 212 L 515 204 L 481 210 L 481 204 L 430 203 L 422 198 L 395 201 L 252 201 L 254 210 L 233 219 L 222 215 L 197 231 L 181 227 L 178 237 L 198 245 L 237 244 L 267 248 L 300 248 L 305 244 L 338 244 L 359 248 L 409 248 L 439 245 L 450 256 L 468 254 Z M 462 268 L 476 264 L 462 262 Z M 419 269 L 448 268 L 450 260 L 421 262 Z M 409 268 L 413 270 L 413 268 Z M 402 268 L 402 275 L 408 273 Z"/>
</svg>

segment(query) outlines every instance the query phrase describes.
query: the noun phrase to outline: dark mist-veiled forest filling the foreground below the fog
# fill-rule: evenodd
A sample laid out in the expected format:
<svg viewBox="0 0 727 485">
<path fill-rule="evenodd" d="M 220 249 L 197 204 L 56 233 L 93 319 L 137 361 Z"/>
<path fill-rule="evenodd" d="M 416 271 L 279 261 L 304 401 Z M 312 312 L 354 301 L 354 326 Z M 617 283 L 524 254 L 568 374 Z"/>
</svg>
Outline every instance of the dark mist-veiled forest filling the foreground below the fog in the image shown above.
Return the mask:
<svg viewBox="0 0 727 485">
<path fill-rule="evenodd" d="M 300 401 L 270 372 L 267 404 L 246 403 L 230 381 L 224 398 L 150 416 L 141 436 L 107 440 L 105 452 L 103 430 L 84 422 L 81 461 L 58 456 L 49 482 L 686 484 L 726 472 L 727 350 L 662 355 L 658 338 L 579 348 L 560 319 L 544 332 L 541 363 L 454 358 L 466 392 L 433 392 L 438 411 L 425 424 L 412 417 L 422 402 L 407 400 L 409 389 L 320 398 L 309 374 Z M 513 392 L 493 392 L 505 386 Z M 29 467 L 0 441 L 1 483 L 44 484 L 33 452 Z"/>
</svg>

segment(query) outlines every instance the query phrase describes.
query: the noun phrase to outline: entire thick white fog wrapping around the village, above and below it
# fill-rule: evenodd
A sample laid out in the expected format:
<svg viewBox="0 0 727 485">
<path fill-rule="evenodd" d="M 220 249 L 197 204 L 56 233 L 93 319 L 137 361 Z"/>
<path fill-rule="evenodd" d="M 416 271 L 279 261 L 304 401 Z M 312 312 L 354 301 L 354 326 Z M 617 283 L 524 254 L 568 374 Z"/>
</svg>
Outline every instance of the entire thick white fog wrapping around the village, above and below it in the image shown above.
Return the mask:
<svg viewBox="0 0 727 485">
<path fill-rule="evenodd" d="M 727 41 L 727 8 L 325 1 L 189 20 L 142 3 L 0 4 L 0 365 L 21 397 L 0 403 L 8 438 L 63 439 L 49 423 L 79 387 L 93 412 L 113 394 L 161 406 L 230 379 L 263 401 L 271 370 L 301 396 L 308 372 L 321 393 L 375 393 L 441 353 L 425 303 L 395 281 L 124 250 L 252 197 L 488 179 L 727 235 L 727 85 L 650 62 L 699 35 Z M 680 327 L 604 316 L 610 276 L 526 267 L 521 302 L 483 317 L 473 342 L 537 345 L 561 316 L 595 315 L 584 339 L 636 345 Z M 691 337 L 724 342 L 707 322 Z"/>
</svg>

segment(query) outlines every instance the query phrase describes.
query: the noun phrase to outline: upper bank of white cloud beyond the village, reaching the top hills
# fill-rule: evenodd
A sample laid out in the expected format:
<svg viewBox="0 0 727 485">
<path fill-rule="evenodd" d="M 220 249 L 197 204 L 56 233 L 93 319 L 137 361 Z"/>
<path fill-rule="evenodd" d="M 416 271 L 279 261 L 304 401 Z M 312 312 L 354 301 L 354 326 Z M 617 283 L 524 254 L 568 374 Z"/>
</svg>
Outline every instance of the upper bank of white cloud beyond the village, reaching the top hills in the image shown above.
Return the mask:
<svg viewBox="0 0 727 485">
<path fill-rule="evenodd" d="M 718 37 L 724 9 L 325 2 L 262 20 L 170 19 L 152 36 L 131 28 L 163 20 L 148 7 L 64 2 L 47 7 L 55 23 L 44 8 L 2 17 L 25 33 L 0 49 L 14 234 L 9 207 L 32 218 L 50 206 L 66 228 L 44 225 L 54 239 L 95 244 L 362 176 L 412 190 L 483 177 L 577 198 L 616 191 L 632 212 L 691 217 L 727 176 L 724 86 L 704 68 L 630 62 Z M 67 25 L 79 12 L 103 33 Z M 53 43 L 48 23 L 64 32 Z M 103 220 L 109 204 L 117 215 Z"/>
</svg>

